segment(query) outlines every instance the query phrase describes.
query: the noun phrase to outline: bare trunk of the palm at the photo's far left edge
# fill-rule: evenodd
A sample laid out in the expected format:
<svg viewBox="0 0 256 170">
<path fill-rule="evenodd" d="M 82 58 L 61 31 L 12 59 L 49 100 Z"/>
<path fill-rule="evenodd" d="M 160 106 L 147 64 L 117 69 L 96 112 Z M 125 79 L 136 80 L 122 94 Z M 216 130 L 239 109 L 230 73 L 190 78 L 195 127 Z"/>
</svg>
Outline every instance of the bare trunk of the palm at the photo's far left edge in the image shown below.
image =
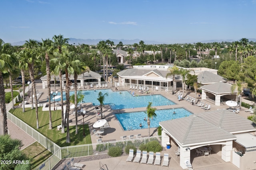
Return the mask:
<svg viewBox="0 0 256 170">
<path fill-rule="evenodd" d="M 1 112 L 2 112 L 2 120 L 3 120 L 3 134 L 7 135 L 8 134 L 8 127 L 7 127 L 7 114 L 6 114 L 6 107 L 5 107 L 5 92 L 4 92 L 4 76 L 2 72 L 0 72 L 0 92 L 2 93 L 0 95 L 0 107 L 1 107 Z"/>
</svg>

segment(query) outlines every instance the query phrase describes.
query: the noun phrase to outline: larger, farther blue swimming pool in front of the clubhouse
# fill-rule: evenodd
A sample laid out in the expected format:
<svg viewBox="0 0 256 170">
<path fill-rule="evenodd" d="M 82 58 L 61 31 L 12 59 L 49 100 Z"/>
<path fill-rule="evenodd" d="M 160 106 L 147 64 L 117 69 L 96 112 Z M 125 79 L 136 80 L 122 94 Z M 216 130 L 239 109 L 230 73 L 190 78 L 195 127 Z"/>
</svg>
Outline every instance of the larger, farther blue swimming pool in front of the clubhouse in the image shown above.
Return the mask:
<svg viewBox="0 0 256 170">
<path fill-rule="evenodd" d="M 165 105 L 174 105 L 175 103 L 168 100 L 162 95 L 145 95 L 145 96 L 132 96 L 132 92 L 128 91 L 112 91 L 111 89 L 102 89 L 102 90 L 85 90 L 84 102 L 92 102 L 94 106 L 100 105 L 100 102 L 97 100 L 99 92 L 102 94 L 108 93 L 106 96 L 104 104 L 110 105 L 112 109 L 130 109 L 136 107 L 147 107 L 148 102 L 152 102 L 152 106 L 165 106 Z M 74 91 L 70 92 L 70 96 L 74 94 Z M 58 93 L 60 95 L 60 92 Z M 63 93 L 63 100 L 66 100 L 66 94 Z M 57 99 L 55 101 L 60 101 Z"/>
</svg>

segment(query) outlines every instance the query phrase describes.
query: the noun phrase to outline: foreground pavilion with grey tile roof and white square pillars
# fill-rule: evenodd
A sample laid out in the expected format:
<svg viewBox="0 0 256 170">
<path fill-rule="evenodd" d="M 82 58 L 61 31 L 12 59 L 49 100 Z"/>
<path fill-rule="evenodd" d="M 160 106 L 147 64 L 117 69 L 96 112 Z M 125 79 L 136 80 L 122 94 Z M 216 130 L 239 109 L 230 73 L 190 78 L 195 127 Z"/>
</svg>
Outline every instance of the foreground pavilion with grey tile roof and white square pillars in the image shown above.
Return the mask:
<svg viewBox="0 0 256 170">
<path fill-rule="evenodd" d="M 175 141 L 171 145 L 180 147 L 180 166 L 184 169 L 184 162 L 190 162 L 191 150 L 199 147 L 210 146 L 214 152 L 221 153 L 224 161 L 230 162 L 236 134 L 256 131 L 252 121 L 226 109 L 162 121 L 159 125 L 162 127 L 162 146 Z"/>
</svg>

